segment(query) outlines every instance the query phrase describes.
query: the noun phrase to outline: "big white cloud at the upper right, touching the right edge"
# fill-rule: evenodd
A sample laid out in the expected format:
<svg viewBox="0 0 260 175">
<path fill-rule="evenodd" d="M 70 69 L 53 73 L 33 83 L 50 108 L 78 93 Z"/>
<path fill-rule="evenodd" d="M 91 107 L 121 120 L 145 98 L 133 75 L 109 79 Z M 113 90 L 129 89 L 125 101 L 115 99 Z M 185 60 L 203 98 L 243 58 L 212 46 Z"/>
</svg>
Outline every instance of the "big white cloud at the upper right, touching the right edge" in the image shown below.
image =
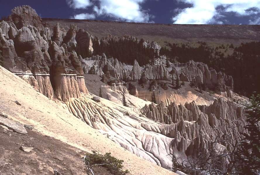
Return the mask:
<svg viewBox="0 0 260 175">
<path fill-rule="evenodd" d="M 178 0 L 179 2 L 191 3 L 191 8 L 183 9 L 172 20 L 175 24 L 209 24 L 223 23 L 219 21 L 218 6 L 222 6 L 222 12 L 235 13 L 240 16 L 259 14 L 260 0 Z"/>
</svg>

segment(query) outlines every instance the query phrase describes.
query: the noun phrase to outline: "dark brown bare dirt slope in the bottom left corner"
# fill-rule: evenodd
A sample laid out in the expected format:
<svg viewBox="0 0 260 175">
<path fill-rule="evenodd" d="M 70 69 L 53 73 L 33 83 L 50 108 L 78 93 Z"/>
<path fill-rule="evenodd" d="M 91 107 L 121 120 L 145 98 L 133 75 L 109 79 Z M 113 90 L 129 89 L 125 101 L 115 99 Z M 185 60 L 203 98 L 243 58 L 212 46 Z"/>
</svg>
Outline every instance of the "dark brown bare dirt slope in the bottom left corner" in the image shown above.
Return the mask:
<svg viewBox="0 0 260 175">
<path fill-rule="evenodd" d="M 34 129 L 33 129 L 34 130 Z M 27 129 L 28 134 L 4 132 L 0 127 L 0 175 L 53 174 L 86 175 L 84 151 L 62 141 Z M 20 146 L 33 148 L 29 153 Z M 104 167 L 95 166 L 94 173 L 112 175 Z"/>
</svg>

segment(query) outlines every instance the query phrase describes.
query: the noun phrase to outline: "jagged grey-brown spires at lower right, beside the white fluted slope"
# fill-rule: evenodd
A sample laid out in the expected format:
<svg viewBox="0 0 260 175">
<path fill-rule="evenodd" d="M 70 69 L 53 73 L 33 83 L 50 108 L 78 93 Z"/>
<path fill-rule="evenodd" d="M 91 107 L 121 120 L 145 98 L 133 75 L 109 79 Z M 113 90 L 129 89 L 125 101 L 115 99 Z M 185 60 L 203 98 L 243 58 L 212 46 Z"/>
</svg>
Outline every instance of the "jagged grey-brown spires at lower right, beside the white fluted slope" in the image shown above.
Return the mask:
<svg viewBox="0 0 260 175">
<path fill-rule="evenodd" d="M 186 137 L 184 143 L 192 140 L 190 146 L 184 146 L 187 155 L 197 155 L 196 149 L 204 146 L 207 148 L 206 143 L 212 139 L 210 137 L 217 137 L 218 134 L 229 136 L 223 143 L 226 147 L 229 142 L 237 138 L 240 132 L 244 131 L 246 125 L 244 108 L 237 107 L 232 101 L 224 101 L 223 98 L 216 99 L 210 106 L 203 106 L 202 111 L 192 102 L 186 103 L 185 106 L 172 103 L 168 107 L 165 107 L 163 103 L 157 106 L 151 104 L 144 106 L 141 112 L 148 118 L 169 124 L 161 125 L 162 134 L 172 138 L 178 135 L 184 139 Z M 198 143 L 204 143 L 204 145 Z M 183 146 L 181 148 L 183 150 Z"/>
</svg>

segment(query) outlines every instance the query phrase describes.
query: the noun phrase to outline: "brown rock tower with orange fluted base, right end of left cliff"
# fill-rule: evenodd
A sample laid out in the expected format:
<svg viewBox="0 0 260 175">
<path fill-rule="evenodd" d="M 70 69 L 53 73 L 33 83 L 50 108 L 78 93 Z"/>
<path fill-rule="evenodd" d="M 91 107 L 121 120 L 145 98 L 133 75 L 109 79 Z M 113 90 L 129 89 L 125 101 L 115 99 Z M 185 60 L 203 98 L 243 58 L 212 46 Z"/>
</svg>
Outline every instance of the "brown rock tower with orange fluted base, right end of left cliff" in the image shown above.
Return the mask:
<svg viewBox="0 0 260 175">
<path fill-rule="evenodd" d="M 80 97 L 80 91 L 87 92 L 82 77 L 79 78 L 79 82 L 77 81 L 77 75 L 83 75 L 83 69 L 77 54 L 74 51 L 69 53 L 66 44 L 59 47 L 55 42 L 52 42 L 49 53 L 52 60 L 51 82 L 54 95 L 62 101 L 69 101 L 72 97 Z"/>
</svg>

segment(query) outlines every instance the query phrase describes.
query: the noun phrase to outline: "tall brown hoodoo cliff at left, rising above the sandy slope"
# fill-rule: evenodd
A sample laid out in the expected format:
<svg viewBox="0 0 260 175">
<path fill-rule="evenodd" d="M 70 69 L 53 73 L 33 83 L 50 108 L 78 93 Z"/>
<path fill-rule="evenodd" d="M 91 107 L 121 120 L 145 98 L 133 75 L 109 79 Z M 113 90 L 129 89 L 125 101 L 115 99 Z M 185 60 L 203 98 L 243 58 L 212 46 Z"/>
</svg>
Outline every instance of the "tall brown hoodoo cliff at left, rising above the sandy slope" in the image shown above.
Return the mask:
<svg viewBox="0 0 260 175">
<path fill-rule="evenodd" d="M 80 92 L 88 93 L 82 79 L 81 57 L 75 52 L 76 26 L 72 25 L 66 36 L 58 24 L 51 31 L 43 27 L 41 18 L 29 6 L 14 8 L 8 20 L 0 23 L 0 48 L 6 69 L 50 99 L 55 95 L 68 101 L 80 97 Z"/>
</svg>

